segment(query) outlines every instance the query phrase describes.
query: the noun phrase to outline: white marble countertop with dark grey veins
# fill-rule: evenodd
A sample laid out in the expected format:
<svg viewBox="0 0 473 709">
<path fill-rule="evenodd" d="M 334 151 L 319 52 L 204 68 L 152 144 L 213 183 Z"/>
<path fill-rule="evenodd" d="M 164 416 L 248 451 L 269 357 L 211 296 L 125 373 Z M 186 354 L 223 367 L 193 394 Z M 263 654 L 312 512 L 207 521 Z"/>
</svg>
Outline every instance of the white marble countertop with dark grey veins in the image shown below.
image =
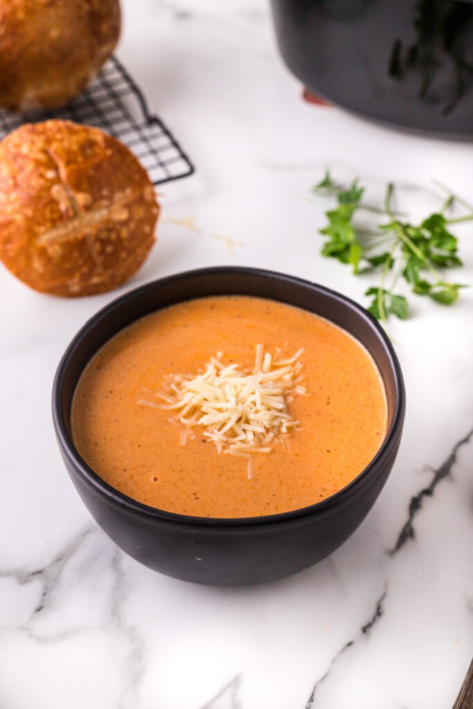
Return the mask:
<svg viewBox="0 0 473 709">
<path fill-rule="evenodd" d="M 392 323 L 408 406 L 389 481 L 335 554 L 266 586 L 194 586 L 118 551 L 62 465 L 50 390 L 89 316 L 172 272 L 265 267 L 365 303 L 367 280 L 319 255 L 328 203 L 307 197 L 323 166 L 373 194 L 391 179 L 435 203 L 415 190 L 438 177 L 472 201 L 473 146 L 305 104 L 262 0 L 124 14 L 118 57 L 197 174 L 162 188 L 155 250 L 119 291 L 66 301 L 1 269 L 0 707 L 449 709 L 473 652 L 473 289 L 453 308 L 414 297 Z M 457 234 L 472 283 L 472 225 Z"/>
</svg>

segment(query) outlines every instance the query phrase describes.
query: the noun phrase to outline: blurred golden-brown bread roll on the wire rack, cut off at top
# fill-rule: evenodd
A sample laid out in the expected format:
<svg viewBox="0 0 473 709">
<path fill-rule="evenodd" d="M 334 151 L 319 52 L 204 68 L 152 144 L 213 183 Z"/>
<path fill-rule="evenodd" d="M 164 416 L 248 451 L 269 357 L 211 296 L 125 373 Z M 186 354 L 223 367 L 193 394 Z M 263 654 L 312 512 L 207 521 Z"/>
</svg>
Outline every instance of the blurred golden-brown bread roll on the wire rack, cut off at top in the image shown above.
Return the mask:
<svg viewBox="0 0 473 709">
<path fill-rule="evenodd" d="M 62 106 L 120 35 L 118 0 L 0 0 L 0 107 Z"/>
</svg>

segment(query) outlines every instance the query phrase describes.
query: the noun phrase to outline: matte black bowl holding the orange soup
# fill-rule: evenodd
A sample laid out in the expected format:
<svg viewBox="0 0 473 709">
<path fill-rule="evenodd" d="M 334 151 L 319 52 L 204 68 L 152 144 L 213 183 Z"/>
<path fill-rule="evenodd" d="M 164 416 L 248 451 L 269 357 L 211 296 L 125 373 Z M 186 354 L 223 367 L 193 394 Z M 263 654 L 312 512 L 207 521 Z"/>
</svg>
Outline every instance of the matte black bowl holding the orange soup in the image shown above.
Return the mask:
<svg viewBox="0 0 473 709">
<path fill-rule="evenodd" d="M 82 370 L 119 330 L 159 308 L 200 296 L 272 298 L 345 328 L 372 354 L 384 380 L 388 432 L 360 475 L 335 495 L 292 512 L 216 519 L 157 510 L 106 484 L 79 456 L 70 428 L 72 396 Z M 404 384 L 399 362 L 376 320 L 348 298 L 308 281 L 250 268 L 217 267 L 170 276 L 113 301 L 74 337 L 57 369 L 52 413 L 69 475 L 102 529 L 151 569 L 199 584 L 257 584 L 295 574 L 337 549 L 379 495 L 401 439 Z"/>
</svg>

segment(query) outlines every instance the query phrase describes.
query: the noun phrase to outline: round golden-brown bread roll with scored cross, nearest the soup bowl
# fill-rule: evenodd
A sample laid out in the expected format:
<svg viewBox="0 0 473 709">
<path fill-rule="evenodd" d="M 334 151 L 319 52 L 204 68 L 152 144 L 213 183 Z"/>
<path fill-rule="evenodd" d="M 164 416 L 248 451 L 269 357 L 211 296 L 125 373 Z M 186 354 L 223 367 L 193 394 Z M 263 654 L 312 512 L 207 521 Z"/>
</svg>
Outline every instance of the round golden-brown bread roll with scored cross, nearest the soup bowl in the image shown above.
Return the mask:
<svg viewBox="0 0 473 709">
<path fill-rule="evenodd" d="M 148 256 L 158 213 L 145 169 L 98 128 L 45 121 L 0 143 L 0 259 L 37 291 L 120 285 Z"/>
</svg>

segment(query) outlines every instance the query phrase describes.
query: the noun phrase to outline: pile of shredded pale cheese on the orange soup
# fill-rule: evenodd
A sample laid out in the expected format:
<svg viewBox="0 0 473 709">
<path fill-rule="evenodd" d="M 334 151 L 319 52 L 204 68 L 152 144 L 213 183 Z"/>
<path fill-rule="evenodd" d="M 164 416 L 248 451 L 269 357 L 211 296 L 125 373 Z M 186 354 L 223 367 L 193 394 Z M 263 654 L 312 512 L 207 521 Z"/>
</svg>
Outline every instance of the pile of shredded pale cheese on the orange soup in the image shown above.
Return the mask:
<svg viewBox="0 0 473 709">
<path fill-rule="evenodd" d="M 284 442 L 300 423 L 292 418 L 288 405 L 294 396 L 306 393 L 300 383 L 302 352 L 289 359 L 274 359 L 264 345 L 257 345 L 251 371 L 239 364 L 223 364 L 223 353 L 217 352 L 201 374 L 172 376 L 166 391 L 155 393 L 162 403 L 145 399 L 138 403 L 176 411 L 177 420 L 186 427 L 181 445 L 188 432 L 200 429 L 219 453 L 247 458 L 251 478 L 252 454 L 270 453 L 272 445 Z"/>
</svg>

